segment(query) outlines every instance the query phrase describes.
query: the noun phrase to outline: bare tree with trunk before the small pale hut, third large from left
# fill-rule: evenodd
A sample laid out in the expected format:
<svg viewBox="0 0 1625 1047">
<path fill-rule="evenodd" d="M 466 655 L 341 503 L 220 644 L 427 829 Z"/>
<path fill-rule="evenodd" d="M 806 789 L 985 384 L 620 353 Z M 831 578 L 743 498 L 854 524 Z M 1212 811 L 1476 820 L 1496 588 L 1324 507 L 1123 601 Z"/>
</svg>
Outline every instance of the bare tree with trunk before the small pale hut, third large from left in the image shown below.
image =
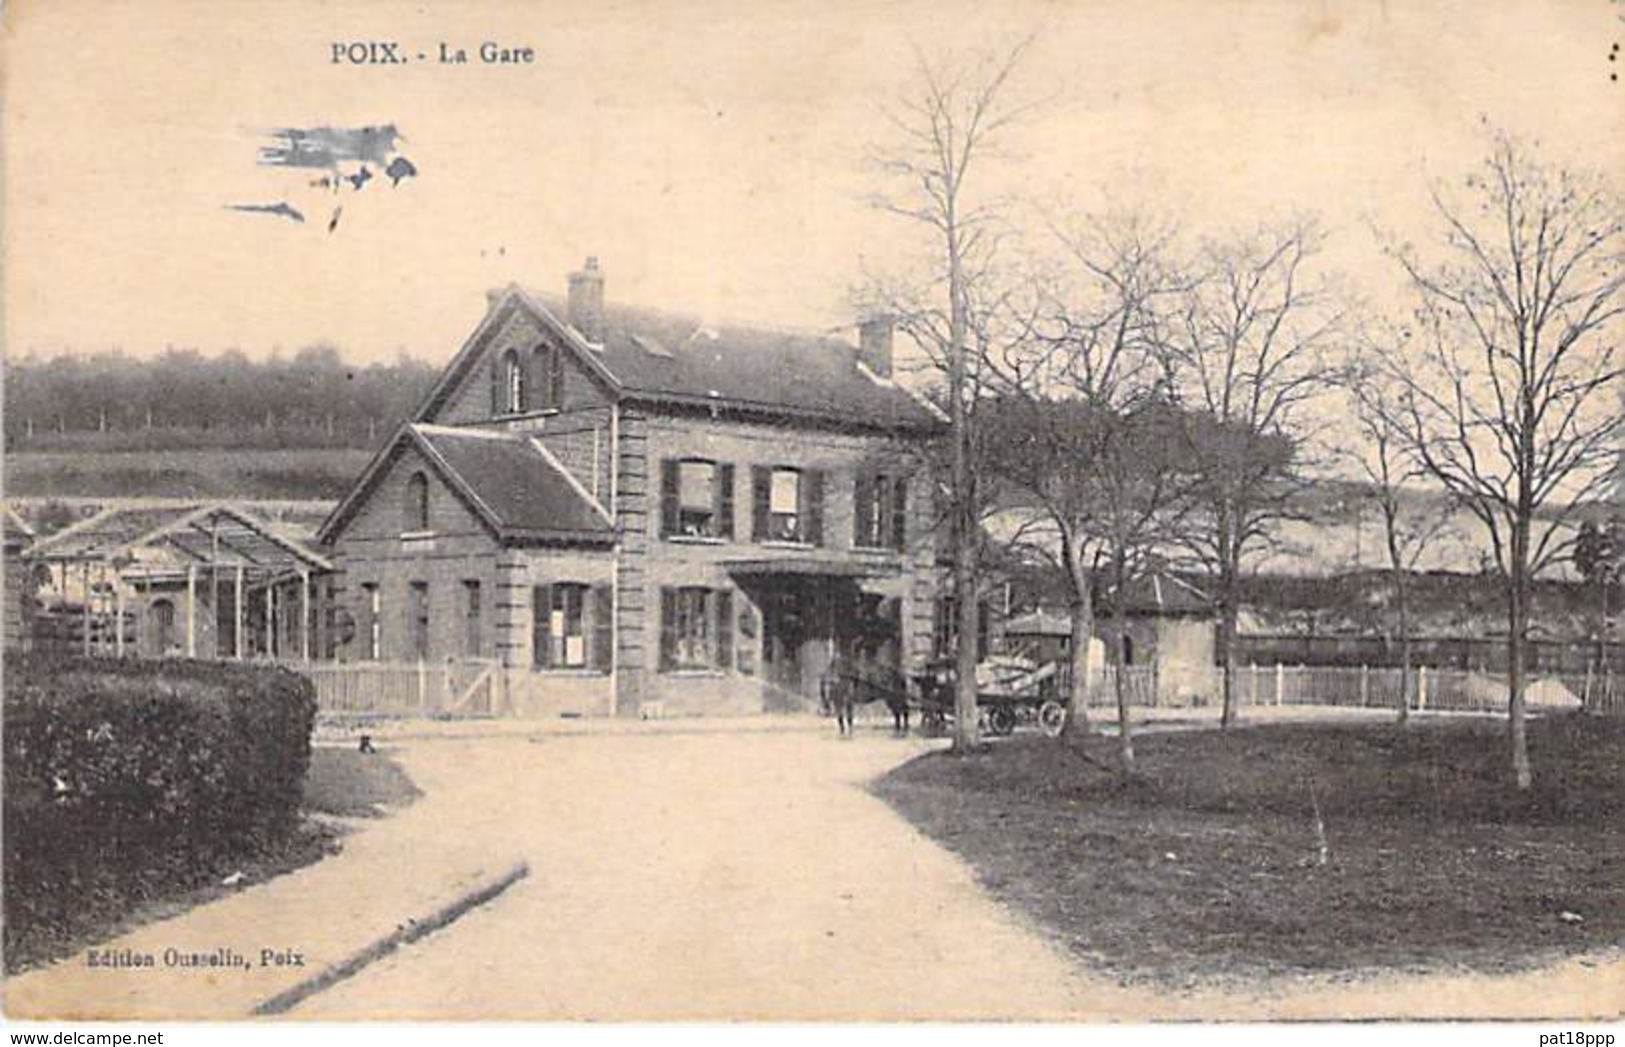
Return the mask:
<svg viewBox="0 0 1625 1047">
<path fill-rule="evenodd" d="M 1313 429 L 1305 408 L 1331 377 L 1326 353 L 1341 315 L 1315 272 L 1320 244 L 1308 223 L 1209 242 L 1173 328 L 1168 361 L 1201 476 L 1185 545 L 1219 603 L 1224 727 L 1237 717 L 1245 572 L 1277 540 L 1279 524 L 1298 515 L 1297 467 Z"/>
</svg>

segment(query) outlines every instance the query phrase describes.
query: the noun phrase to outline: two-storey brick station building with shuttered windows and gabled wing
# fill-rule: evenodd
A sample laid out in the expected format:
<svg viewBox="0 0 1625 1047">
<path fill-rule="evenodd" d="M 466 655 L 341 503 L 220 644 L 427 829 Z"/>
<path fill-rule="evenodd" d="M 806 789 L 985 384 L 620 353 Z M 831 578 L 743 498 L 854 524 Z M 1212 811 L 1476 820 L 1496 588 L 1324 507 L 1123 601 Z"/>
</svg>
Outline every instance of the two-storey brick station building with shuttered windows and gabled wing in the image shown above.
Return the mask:
<svg viewBox="0 0 1625 1047">
<path fill-rule="evenodd" d="M 800 709 L 913 668 L 942 416 L 853 343 L 509 286 L 322 525 L 343 662 L 488 660 L 518 715 Z"/>
</svg>

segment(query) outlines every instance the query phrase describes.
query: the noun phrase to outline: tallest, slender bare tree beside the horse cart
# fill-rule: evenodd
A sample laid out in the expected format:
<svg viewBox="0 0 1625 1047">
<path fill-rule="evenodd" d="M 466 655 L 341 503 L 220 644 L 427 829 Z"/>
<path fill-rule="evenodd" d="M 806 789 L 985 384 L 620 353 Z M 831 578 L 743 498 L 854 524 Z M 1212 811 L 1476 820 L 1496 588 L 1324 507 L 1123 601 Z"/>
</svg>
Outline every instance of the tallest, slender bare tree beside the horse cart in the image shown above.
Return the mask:
<svg viewBox="0 0 1625 1047">
<path fill-rule="evenodd" d="M 949 541 L 954 563 L 959 642 L 954 701 L 954 751 L 978 745 L 977 732 L 977 476 L 972 429 L 977 389 L 968 380 L 978 327 L 973 285 L 986 276 L 996 254 L 999 226 L 990 205 L 968 192 L 970 176 L 998 138 L 1022 112 L 1006 99 L 1012 73 L 1030 37 L 975 62 L 931 62 L 920 57 L 916 85 L 887 112 L 894 143 L 876 159 L 897 190 L 874 198 L 876 206 L 923 226 L 939 249 L 934 280 L 946 307 L 894 309 L 900 325 L 947 371 L 951 419 Z M 996 298 L 996 294 L 990 294 Z M 939 322 L 941 320 L 941 322 Z M 991 335 L 990 335 L 991 337 Z"/>
</svg>

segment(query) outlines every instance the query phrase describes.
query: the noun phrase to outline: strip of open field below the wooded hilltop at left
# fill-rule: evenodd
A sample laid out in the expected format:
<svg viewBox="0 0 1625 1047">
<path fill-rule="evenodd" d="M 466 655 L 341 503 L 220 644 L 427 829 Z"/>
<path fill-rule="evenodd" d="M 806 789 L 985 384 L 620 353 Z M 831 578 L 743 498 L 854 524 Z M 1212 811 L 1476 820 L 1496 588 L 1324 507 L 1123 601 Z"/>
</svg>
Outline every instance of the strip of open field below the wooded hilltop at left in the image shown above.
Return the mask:
<svg viewBox="0 0 1625 1047">
<path fill-rule="evenodd" d="M 10 496 L 336 499 L 372 452 L 73 450 L 5 457 Z"/>
</svg>

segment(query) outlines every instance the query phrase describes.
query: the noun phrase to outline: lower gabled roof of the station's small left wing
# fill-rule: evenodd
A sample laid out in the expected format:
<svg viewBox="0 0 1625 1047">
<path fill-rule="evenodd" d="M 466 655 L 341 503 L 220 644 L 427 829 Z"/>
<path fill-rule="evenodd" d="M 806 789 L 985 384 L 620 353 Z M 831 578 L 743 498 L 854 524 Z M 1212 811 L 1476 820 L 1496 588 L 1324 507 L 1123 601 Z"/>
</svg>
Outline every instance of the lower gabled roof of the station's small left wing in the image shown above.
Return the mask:
<svg viewBox="0 0 1625 1047">
<path fill-rule="evenodd" d="M 613 543 L 601 504 L 538 441 L 496 429 L 406 424 L 367 465 L 322 524 L 332 541 L 405 447 L 416 447 L 474 514 L 502 540 Z"/>
</svg>

